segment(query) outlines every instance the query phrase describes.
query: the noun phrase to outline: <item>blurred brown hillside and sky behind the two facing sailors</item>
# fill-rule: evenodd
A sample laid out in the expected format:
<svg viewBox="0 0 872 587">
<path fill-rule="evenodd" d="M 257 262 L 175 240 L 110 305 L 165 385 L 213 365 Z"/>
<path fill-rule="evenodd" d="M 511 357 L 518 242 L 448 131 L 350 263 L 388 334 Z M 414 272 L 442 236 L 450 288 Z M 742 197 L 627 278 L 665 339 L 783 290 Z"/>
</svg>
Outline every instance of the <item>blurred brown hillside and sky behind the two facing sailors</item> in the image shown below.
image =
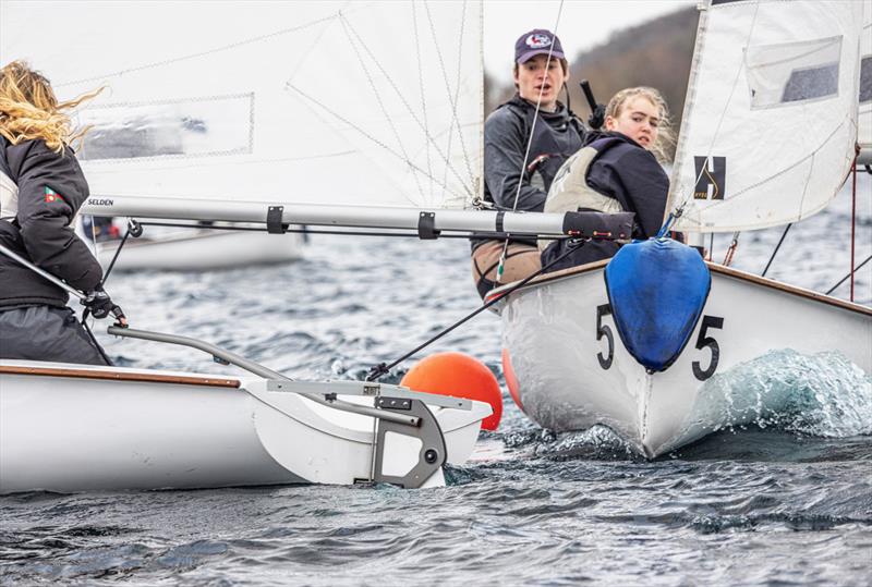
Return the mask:
<svg viewBox="0 0 872 587">
<path fill-rule="evenodd" d="M 579 88 L 588 80 L 594 96 L 603 103 L 618 90 L 631 86 L 652 86 L 669 105 L 676 137 L 685 109 L 690 62 L 697 37 L 698 11 L 682 9 L 632 28 L 617 32 L 603 45 L 569 57 L 569 98 L 572 110 L 586 121 L 590 109 Z M 558 35 L 567 38 L 572 30 Z M 583 34 L 579 30 L 578 34 Z M 507 48 L 511 50 L 511 48 Z M 514 94 L 511 71 L 485 76 L 485 115 Z M 560 98 L 564 101 L 565 96 Z"/>
</svg>

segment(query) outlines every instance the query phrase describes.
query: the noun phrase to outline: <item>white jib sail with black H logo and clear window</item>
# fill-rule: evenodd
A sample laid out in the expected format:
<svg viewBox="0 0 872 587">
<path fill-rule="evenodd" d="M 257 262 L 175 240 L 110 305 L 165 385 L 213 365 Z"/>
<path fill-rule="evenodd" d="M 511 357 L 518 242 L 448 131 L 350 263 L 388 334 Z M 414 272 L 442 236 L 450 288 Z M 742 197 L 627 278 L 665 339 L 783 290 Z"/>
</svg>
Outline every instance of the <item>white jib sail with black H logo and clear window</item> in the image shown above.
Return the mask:
<svg viewBox="0 0 872 587">
<path fill-rule="evenodd" d="M 711 0 L 673 170 L 676 227 L 719 232 L 801 220 L 855 158 L 863 2 Z"/>
</svg>

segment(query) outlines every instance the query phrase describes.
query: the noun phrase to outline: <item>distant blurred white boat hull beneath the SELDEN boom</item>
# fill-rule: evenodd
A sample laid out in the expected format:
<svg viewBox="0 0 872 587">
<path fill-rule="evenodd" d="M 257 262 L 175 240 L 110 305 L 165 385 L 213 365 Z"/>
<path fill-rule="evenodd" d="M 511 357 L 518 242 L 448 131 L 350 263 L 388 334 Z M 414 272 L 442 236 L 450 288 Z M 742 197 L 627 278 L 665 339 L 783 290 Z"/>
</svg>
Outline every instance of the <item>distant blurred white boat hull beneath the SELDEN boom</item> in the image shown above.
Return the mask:
<svg viewBox="0 0 872 587">
<path fill-rule="evenodd" d="M 104 243 L 97 254 L 100 265 L 111 262 L 118 243 Z M 186 230 L 159 239 L 129 239 L 116 269 L 194 271 L 231 269 L 296 260 L 302 256 L 299 233 L 269 234 L 253 231 Z"/>
</svg>

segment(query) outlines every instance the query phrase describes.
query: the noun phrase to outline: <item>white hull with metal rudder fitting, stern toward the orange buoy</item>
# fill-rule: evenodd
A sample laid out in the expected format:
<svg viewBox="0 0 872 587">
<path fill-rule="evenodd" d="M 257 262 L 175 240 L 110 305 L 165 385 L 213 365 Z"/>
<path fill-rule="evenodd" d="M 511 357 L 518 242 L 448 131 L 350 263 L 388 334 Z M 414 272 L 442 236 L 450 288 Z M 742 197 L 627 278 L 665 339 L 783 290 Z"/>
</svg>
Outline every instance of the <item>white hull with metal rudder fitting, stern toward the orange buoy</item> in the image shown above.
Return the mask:
<svg viewBox="0 0 872 587">
<path fill-rule="evenodd" d="M 447 462 L 464 462 L 489 406 L 431 411 Z M 386 474 L 419 462 L 414 441 L 386 440 Z M 0 493 L 350 485 L 372 457 L 373 418 L 263 379 L 0 362 Z M 424 486 L 443 484 L 438 469 Z"/>
</svg>

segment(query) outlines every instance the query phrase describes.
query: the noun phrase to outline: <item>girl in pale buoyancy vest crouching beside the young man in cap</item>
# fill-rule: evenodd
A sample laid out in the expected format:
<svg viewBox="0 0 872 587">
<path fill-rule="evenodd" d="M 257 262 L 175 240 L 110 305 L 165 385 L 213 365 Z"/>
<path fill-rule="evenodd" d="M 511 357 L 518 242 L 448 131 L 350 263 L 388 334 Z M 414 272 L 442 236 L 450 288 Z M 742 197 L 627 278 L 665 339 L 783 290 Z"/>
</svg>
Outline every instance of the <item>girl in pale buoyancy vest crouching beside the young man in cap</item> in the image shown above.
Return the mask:
<svg viewBox="0 0 872 587">
<path fill-rule="evenodd" d="M 581 150 L 557 172 L 544 211 L 633 212 L 633 239 L 654 236 L 663 224 L 669 192 L 662 167 L 673 143 L 666 100 L 651 87 L 622 89 L 606 107 L 605 129 L 590 133 Z M 616 241 L 538 243 L 542 265 L 574 247 L 550 271 L 609 258 L 620 245 Z"/>
</svg>

